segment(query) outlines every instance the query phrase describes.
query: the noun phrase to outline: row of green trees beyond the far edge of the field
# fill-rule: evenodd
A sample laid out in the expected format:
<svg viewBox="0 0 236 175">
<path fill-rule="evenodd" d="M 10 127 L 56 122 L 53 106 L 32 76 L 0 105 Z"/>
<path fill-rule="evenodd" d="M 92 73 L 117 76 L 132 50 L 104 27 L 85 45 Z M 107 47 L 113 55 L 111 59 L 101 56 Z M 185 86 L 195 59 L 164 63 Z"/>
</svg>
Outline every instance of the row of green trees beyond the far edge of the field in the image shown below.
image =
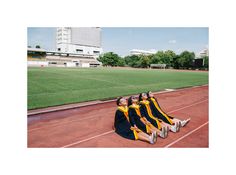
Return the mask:
<svg viewBox="0 0 236 175">
<path fill-rule="evenodd" d="M 195 53 L 183 51 L 175 54 L 172 50 L 158 51 L 152 55 L 129 55 L 124 58 L 113 52 L 99 56 L 103 66 L 149 68 L 151 64 L 166 64 L 166 68 L 174 69 L 208 69 L 208 56 L 201 58 L 201 64 L 195 63 Z"/>
</svg>

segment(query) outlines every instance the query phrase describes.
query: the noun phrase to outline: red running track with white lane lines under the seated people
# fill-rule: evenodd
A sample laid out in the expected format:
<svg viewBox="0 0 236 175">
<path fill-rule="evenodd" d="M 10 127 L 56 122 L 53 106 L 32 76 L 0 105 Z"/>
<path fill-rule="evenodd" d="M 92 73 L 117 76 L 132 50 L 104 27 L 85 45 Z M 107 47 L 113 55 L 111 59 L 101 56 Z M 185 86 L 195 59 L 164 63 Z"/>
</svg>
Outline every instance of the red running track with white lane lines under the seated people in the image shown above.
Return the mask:
<svg viewBox="0 0 236 175">
<path fill-rule="evenodd" d="M 163 110 L 179 119 L 191 117 L 178 133 L 153 145 L 120 137 L 112 130 L 114 101 L 28 117 L 28 147 L 203 147 L 208 148 L 208 86 L 155 95 Z"/>
</svg>

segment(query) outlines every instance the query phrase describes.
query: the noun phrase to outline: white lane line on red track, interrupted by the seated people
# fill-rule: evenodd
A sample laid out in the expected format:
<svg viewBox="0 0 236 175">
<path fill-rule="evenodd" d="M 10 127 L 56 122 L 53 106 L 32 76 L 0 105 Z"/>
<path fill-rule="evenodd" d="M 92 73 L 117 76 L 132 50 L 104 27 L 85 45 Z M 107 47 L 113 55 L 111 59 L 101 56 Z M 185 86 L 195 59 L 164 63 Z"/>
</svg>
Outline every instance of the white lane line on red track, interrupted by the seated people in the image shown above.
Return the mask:
<svg viewBox="0 0 236 175">
<path fill-rule="evenodd" d="M 208 99 L 207 99 L 207 100 L 208 100 Z M 192 104 L 192 105 L 185 106 L 185 107 L 183 107 L 183 108 L 179 108 L 179 109 L 176 109 L 176 110 L 173 110 L 173 111 L 169 111 L 168 113 L 173 113 L 173 112 L 176 112 L 176 111 L 180 111 L 180 110 L 182 110 L 182 109 L 189 108 L 189 107 L 191 107 L 191 106 L 194 106 L 194 105 L 203 103 L 203 102 L 205 102 L 205 101 L 207 101 L 207 100 L 203 100 L 203 101 L 201 101 L 201 102 L 197 102 L 197 103 L 194 103 L 194 104 Z M 91 139 L 94 139 L 94 138 L 97 138 L 97 137 L 100 137 L 100 136 L 103 136 L 103 135 L 107 135 L 107 134 L 110 134 L 110 133 L 113 133 L 113 132 L 115 132 L 115 131 L 114 131 L 114 130 L 111 130 L 111 131 L 108 131 L 108 132 L 105 132 L 105 133 L 102 133 L 102 134 L 99 134 L 99 135 L 95 135 L 95 136 L 93 136 L 93 137 L 90 137 L 90 138 L 87 138 L 87 139 L 84 139 L 84 140 L 76 141 L 76 142 L 74 142 L 74 143 L 65 145 L 65 146 L 63 146 L 63 147 L 61 147 L 61 148 L 67 148 L 67 147 L 70 147 L 70 146 L 72 146 L 72 145 L 76 145 L 76 144 L 79 144 L 79 143 L 82 143 L 82 142 L 86 142 L 86 141 L 89 141 L 89 140 L 91 140 Z"/>
</svg>

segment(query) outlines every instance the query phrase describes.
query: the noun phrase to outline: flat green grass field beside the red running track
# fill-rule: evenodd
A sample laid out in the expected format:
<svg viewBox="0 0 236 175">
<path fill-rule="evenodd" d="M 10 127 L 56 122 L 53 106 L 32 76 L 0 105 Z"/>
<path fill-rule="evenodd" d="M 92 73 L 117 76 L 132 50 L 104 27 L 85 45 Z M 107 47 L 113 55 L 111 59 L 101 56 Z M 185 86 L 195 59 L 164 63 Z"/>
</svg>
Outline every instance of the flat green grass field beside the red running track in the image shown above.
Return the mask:
<svg viewBox="0 0 236 175">
<path fill-rule="evenodd" d="M 28 68 L 28 109 L 208 84 L 208 72 Z"/>
</svg>

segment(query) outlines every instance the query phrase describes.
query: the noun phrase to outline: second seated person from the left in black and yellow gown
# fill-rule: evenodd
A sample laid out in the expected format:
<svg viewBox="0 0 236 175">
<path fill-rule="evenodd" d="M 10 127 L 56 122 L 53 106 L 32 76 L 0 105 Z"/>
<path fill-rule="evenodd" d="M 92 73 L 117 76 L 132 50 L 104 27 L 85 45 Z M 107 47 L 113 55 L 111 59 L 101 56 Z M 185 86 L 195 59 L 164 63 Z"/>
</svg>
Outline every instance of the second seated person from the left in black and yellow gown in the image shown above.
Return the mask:
<svg viewBox="0 0 236 175">
<path fill-rule="evenodd" d="M 133 127 L 137 127 L 141 129 L 143 132 L 147 134 L 154 133 L 154 136 L 157 138 L 157 135 L 160 137 L 166 137 L 166 131 L 163 129 L 162 131 L 158 130 L 154 127 L 150 122 L 147 122 L 140 113 L 140 106 L 137 104 L 138 98 L 135 96 L 131 96 L 128 99 L 128 107 L 129 107 L 129 121 Z"/>
</svg>

